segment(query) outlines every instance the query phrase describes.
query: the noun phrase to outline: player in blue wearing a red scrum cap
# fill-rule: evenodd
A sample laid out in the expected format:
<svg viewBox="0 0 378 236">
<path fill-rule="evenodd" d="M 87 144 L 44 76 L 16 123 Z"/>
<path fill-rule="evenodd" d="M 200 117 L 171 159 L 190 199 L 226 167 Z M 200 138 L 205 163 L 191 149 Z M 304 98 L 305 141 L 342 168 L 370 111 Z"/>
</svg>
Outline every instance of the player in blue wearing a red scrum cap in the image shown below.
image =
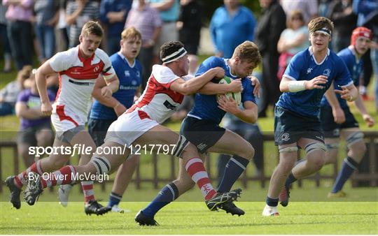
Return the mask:
<svg viewBox="0 0 378 236">
<path fill-rule="evenodd" d="M 346 67 L 349 69 L 351 78 L 356 87 L 363 71 L 363 60 L 361 57 L 369 49 L 370 40 L 372 39 L 372 31 L 365 27 L 358 27 L 353 30 L 351 35 L 351 45 L 344 50 L 337 53 Z M 345 138 L 346 145 L 349 149 L 346 158 L 342 163 L 342 169 L 337 175 L 337 179 L 333 189 L 328 193 L 328 198 L 342 198 L 346 193 L 342 191 L 346 180 L 351 177 L 351 174 L 358 168 L 358 164 L 362 160 L 366 145 L 363 140 L 363 133 L 358 128 L 358 122 L 349 110 L 349 106 L 344 99 L 337 96 L 336 107 L 331 107 L 327 99 L 323 97 L 321 100 L 321 128 L 324 132 L 325 146 L 327 152 L 325 155 L 325 164 L 335 163 L 337 161 L 337 154 L 339 148 L 339 138 Z M 358 94 L 355 101 L 358 111 L 366 122 L 367 126 L 374 126 L 374 119 L 367 113 L 363 99 Z"/>
</svg>

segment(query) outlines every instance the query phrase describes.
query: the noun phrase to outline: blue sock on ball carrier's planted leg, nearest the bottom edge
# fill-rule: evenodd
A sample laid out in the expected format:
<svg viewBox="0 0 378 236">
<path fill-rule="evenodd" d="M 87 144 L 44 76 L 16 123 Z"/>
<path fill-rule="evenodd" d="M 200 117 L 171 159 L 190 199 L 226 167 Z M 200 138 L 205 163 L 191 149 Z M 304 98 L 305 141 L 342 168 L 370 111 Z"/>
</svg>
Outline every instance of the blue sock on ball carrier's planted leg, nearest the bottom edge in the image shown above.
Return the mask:
<svg viewBox="0 0 378 236">
<path fill-rule="evenodd" d="M 145 216 L 153 218 L 162 207 L 173 202 L 176 198 L 179 198 L 179 189 L 177 189 L 174 183 L 169 183 L 162 188 L 158 193 L 158 196 L 156 196 L 155 199 L 142 210 L 142 212 Z"/>
</svg>

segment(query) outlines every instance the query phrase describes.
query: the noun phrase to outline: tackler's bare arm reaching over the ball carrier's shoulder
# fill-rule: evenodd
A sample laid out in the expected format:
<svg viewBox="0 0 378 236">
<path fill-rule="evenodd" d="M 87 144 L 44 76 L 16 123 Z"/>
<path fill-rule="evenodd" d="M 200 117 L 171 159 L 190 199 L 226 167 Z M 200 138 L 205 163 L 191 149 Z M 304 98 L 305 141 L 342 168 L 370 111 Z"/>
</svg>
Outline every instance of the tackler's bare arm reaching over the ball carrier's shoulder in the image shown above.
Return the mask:
<svg viewBox="0 0 378 236">
<path fill-rule="evenodd" d="M 211 68 L 209 71 L 190 80 L 183 80 L 181 78 L 174 80 L 169 88 L 183 95 L 195 94 L 210 80 L 223 78 L 224 76 L 225 70 L 223 70 L 223 68 Z"/>
</svg>

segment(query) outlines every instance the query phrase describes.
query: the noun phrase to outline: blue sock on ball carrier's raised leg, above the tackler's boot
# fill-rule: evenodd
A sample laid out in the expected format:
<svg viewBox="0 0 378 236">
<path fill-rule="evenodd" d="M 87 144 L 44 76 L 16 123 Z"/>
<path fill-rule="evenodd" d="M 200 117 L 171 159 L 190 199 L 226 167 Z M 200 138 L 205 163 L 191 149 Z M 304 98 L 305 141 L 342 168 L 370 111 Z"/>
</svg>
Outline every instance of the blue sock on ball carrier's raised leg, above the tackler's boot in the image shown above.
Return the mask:
<svg viewBox="0 0 378 236">
<path fill-rule="evenodd" d="M 221 184 L 219 184 L 218 192 L 225 193 L 230 191 L 232 185 L 237 181 L 241 173 L 246 170 L 248 163 L 249 161 L 246 158 L 237 155 L 232 156 L 225 167 L 225 172 L 223 173 Z"/>
</svg>

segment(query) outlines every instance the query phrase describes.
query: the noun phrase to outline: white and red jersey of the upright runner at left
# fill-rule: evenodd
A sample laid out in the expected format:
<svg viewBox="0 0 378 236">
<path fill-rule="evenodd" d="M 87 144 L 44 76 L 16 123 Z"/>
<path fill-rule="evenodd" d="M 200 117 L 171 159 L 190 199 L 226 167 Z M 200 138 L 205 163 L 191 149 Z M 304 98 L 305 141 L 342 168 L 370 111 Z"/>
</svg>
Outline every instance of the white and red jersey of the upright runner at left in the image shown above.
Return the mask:
<svg viewBox="0 0 378 236">
<path fill-rule="evenodd" d="M 114 73 L 109 56 L 103 50 L 97 49 L 92 57 L 84 59 L 80 57 L 77 46 L 55 54 L 50 59 L 50 66 L 59 73 L 59 90 L 53 112 L 57 113 L 57 108 L 63 108 L 87 121 L 96 79 L 100 73 L 104 76 Z"/>
</svg>

